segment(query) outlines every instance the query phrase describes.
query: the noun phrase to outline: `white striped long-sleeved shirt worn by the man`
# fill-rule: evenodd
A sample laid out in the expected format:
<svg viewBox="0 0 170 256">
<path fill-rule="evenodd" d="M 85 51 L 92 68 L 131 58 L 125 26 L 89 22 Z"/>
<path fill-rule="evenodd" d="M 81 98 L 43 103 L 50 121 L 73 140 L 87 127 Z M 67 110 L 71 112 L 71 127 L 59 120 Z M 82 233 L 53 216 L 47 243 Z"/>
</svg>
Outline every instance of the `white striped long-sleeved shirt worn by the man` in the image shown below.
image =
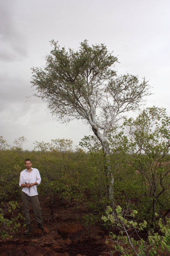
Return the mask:
<svg viewBox="0 0 170 256">
<path fill-rule="evenodd" d="M 40 172 L 36 168 L 31 168 L 31 172 L 29 173 L 26 169 L 20 173 L 19 177 L 19 187 L 21 187 L 21 184 L 25 184 L 31 180 L 31 183 L 37 182 L 38 185 L 41 183 L 41 176 Z M 29 194 L 30 190 L 30 194 Z M 32 186 L 31 188 L 22 188 L 22 191 L 26 193 L 28 196 L 36 196 L 38 195 L 37 192 L 37 185 Z"/>
</svg>

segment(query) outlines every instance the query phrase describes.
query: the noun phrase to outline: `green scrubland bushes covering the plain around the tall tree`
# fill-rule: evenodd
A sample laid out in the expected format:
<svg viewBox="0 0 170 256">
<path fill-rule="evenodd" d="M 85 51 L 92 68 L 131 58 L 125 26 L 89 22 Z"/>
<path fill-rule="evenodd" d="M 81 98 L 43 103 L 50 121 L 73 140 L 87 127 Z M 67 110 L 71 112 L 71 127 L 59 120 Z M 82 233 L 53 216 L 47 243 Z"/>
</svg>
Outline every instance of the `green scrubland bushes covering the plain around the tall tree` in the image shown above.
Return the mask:
<svg viewBox="0 0 170 256">
<path fill-rule="evenodd" d="M 132 227 L 135 230 L 147 229 L 150 232 L 148 239 L 155 243 L 150 243 L 154 246 L 150 255 L 158 255 L 156 248 L 159 244 L 162 250 L 169 251 L 170 227 L 169 219 L 166 218 L 170 214 L 169 129 L 170 117 L 165 109 L 147 108 L 136 120 L 124 119 L 121 127 L 115 127 L 109 132 L 109 156 L 103 154 L 102 147 L 94 136 L 85 136 L 76 150 L 72 149 L 72 140 L 56 139 L 49 143 L 36 141 L 32 152 L 22 150 L 26 141 L 24 137 L 16 139 L 14 147 L 10 147 L 0 137 L 1 236 L 7 236 L 10 228 L 16 230 L 19 227 L 22 215 L 19 213 L 14 216 L 12 213 L 21 199 L 19 174 L 25 169 L 24 160 L 30 158 L 33 167 L 40 171 L 42 181 L 38 186 L 38 193 L 48 198 L 50 218 L 54 217 L 56 196 L 67 204 L 71 204 L 73 200 L 81 201 L 91 210 L 91 214 L 85 217 L 88 224 L 101 220 L 103 214 L 103 222 L 107 228 L 110 227 L 111 230 L 115 225 L 125 225 L 126 236 L 128 229 Z M 88 152 L 85 148 L 88 148 Z M 108 168 L 114 180 L 111 185 L 106 174 Z M 115 205 L 112 213 L 109 212 L 111 208 L 108 208 L 110 186 Z M 140 223 L 143 224 L 140 226 Z M 166 230 L 159 239 L 160 228 L 161 234 Z M 112 234 L 112 239 L 122 241 L 126 236 L 123 233 L 119 237 Z M 130 240 L 125 240 L 130 244 Z M 131 242 L 133 246 L 137 246 L 134 241 Z M 145 255 L 143 248 L 146 248 L 146 244 L 144 241 L 141 244 L 143 247 L 140 247 L 141 251 L 138 250 L 136 255 Z M 121 251 L 122 248 L 118 246 L 116 250 Z"/>
</svg>

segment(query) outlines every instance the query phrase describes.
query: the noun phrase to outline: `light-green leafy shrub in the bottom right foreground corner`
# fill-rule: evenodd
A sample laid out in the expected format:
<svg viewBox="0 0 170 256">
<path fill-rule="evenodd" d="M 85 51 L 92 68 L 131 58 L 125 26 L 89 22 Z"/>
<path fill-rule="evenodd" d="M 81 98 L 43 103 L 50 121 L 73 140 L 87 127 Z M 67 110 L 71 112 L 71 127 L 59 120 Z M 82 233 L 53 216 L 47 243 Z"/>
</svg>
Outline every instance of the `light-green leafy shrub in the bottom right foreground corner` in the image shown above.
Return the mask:
<svg viewBox="0 0 170 256">
<path fill-rule="evenodd" d="M 159 219 L 160 231 L 165 235 L 159 235 L 154 233 L 153 230 L 148 233 L 148 240 L 144 241 L 143 238 L 138 236 L 138 231 L 144 230 L 147 227 L 147 222 L 144 220 L 142 223 L 137 223 L 134 220 L 137 211 L 130 210 L 128 207 L 125 210 L 118 205 L 115 209 L 115 214 L 112 215 L 112 209 L 108 206 L 106 216 L 102 216 L 104 225 L 109 228 L 115 228 L 119 230 L 120 235 L 115 235 L 110 232 L 110 238 L 115 242 L 113 245 L 113 251 L 121 252 L 126 256 L 145 256 L 145 255 L 158 255 L 159 247 L 161 252 L 170 252 L 170 219 L 166 219 L 166 225 Z M 133 236 L 136 234 L 138 239 L 135 240 Z"/>
</svg>

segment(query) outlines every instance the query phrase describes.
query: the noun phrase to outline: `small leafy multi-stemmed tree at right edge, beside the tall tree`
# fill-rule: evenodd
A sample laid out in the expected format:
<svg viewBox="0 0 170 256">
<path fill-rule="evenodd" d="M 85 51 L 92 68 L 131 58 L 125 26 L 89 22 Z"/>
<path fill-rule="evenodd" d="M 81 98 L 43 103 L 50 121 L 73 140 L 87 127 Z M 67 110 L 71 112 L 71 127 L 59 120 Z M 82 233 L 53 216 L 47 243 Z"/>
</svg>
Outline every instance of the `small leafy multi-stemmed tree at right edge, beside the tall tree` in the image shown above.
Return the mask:
<svg viewBox="0 0 170 256">
<path fill-rule="evenodd" d="M 129 137 L 131 165 L 144 178 L 146 205 L 148 213 L 152 213 L 153 223 L 156 204 L 159 204 L 157 212 L 164 212 L 164 217 L 170 212 L 167 193 L 170 184 L 170 117 L 166 109 L 146 108 L 136 120 L 130 118 L 124 125 Z"/>
</svg>

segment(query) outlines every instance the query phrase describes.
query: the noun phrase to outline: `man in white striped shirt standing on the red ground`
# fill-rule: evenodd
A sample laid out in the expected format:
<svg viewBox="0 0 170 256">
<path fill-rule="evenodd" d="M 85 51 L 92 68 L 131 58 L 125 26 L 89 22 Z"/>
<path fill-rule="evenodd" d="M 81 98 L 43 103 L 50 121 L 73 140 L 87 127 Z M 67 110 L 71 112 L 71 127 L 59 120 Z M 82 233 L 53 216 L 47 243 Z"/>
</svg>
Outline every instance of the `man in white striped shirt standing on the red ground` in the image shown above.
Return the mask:
<svg viewBox="0 0 170 256">
<path fill-rule="evenodd" d="M 31 168 L 32 163 L 30 159 L 25 160 L 26 169 L 20 173 L 19 186 L 22 188 L 21 198 L 22 198 L 22 210 L 23 216 L 25 218 L 26 230 L 24 234 L 27 235 L 30 229 L 30 216 L 29 216 L 29 204 L 31 203 L 33 212 L 38 223 L 38 227 L 44 229 L 42 225 L 41 217 L 41 206 L 39 203 L 37 186 L 41 183 L 41 177 L 38 169 Z"/>
</svg>

